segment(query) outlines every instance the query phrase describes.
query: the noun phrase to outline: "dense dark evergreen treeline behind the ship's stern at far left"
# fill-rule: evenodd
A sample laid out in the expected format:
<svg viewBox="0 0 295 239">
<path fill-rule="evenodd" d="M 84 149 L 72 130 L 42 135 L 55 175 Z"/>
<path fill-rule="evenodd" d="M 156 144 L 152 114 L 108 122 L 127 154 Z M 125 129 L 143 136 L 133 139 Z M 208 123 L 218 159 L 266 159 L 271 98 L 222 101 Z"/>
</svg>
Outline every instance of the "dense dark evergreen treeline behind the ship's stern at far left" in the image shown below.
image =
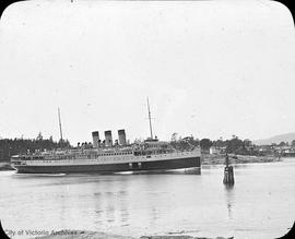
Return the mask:
<svg viewBox="0 0 295 239">
<path fill-rule="evenodd" d="M 2 139 L 0 140 L 0 162 L 8 162 L 12 155 L 25 154 L 27 151 L 35 152 L 36 150 L 54 150 L 71 147 L 68 140 L 60 140 L 56 142 L 52 136 L 49 139 L 43 139 L 39 133 L 36 139 Z"/>
</svg>

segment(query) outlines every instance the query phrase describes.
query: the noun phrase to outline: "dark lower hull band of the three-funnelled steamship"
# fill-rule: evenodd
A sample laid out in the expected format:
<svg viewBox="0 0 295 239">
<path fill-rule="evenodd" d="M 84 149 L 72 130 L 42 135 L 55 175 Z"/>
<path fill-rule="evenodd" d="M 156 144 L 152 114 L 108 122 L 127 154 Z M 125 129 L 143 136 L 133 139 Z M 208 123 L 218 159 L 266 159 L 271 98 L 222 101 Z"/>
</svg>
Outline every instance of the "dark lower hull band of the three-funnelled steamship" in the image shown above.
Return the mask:
<svg viewBox="0 0 295 239">
<path fill-rule="evenodd" d="M 200 157 L 166 159 L 141 163 L 102 164 L 102 165 L 68 165 L 68 166 L 21 166 L 15 165 L 19 174 L 74 174 L 94 172 L 113 174 L 121 171 L 155 171 L 182 168 L 200 168 Z"/>
</svg>

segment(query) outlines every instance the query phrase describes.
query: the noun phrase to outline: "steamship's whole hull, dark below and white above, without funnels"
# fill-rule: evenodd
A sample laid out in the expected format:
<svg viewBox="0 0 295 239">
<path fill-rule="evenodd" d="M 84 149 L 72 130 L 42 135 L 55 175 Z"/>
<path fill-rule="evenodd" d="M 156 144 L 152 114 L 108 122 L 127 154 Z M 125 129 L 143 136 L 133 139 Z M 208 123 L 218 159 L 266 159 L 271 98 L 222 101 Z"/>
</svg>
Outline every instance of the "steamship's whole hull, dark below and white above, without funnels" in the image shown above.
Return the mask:
<svg viewBox="0 0 295 239">
<path fill-rule="evenodd" d="M 93 152 L 93 150 L 91 151 Z M 64 153 L 67 157 L 67 153 Z M 118 171 L 149 171 L 149 170 L 170 170 L 182 168 L 196 168 L 201 165 L 200 150 L 191 152 L 173 152 L 162 154 L 134 155 L 120 154 L 118 152 L 108 155 L 85 154 L 76 159 L 63 159 L 54 156 L 51 159 L 38 156 L 37 159 L 31 157 L 12 157 L 12 166 L 17 172 L 31 174 L 71 174 L 71 172 L 97 172 L 111 174 Z"/>
</svg>

